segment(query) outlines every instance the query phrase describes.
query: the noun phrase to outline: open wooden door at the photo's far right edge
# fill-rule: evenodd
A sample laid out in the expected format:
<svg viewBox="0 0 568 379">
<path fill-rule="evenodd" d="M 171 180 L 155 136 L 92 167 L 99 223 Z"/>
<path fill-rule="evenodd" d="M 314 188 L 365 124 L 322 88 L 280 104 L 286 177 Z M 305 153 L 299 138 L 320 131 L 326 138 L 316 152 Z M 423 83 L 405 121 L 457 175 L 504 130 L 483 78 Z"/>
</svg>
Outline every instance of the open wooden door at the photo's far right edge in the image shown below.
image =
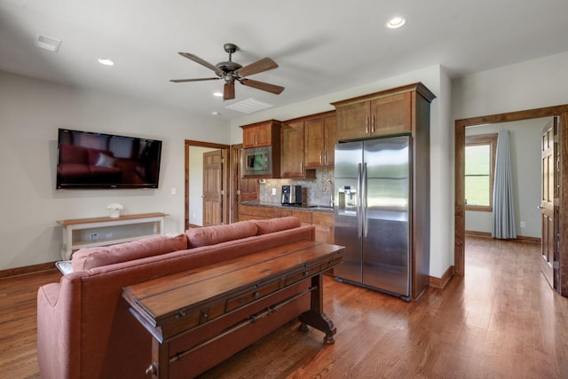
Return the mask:
<svg viewBox="0 0 568 379">
<path fill-rule="evenodd" d="M 542 235 L 541 235 L 541 270 L 552 288 L 558 288 L 556 281 L 555 261 L 557 255 L 557 217 L 555 199 L 558 198 L 557 176 L 557 143 L 556 143 L 556 118 L 549 122 L 542 132 L 541 139 L 541 203 L 542 211 Z"/>
</svg>

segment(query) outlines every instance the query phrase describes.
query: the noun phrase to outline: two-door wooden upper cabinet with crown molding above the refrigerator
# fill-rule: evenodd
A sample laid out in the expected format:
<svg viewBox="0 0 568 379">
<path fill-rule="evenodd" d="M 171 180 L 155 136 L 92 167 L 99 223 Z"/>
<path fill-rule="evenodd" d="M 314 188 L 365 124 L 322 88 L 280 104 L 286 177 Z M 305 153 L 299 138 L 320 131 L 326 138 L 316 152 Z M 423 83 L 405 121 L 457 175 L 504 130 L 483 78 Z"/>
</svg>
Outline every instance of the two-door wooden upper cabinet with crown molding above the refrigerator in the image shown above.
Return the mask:
<svg viewBox="0 0 568 379">
<path fill-rule="evenodd" d="M 435 96 L 422 83 L 414 83 L 355 99 L 333 103 L 340 141 L 412 133 L 416 96 L 429 103 Z"/>
</svg>

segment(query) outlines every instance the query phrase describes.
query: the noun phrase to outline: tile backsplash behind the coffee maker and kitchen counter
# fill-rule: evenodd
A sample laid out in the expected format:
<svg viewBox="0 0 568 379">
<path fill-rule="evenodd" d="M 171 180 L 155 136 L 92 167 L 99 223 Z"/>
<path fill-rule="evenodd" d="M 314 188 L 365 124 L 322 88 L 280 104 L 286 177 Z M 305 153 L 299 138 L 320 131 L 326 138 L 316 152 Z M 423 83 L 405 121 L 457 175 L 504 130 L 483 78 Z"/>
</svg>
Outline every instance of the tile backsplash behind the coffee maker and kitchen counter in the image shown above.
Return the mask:
<svg viewBox="0 0 568 379">
<path fill-rule="evenodd" d="M 332 180 L 331 186 L 327 184 L 324 191 L 324 185 L 327 179 Z M 261 204 L 280 205 L 280 194 L 282 186 L 302 186 L 306 189 L 308 195 L 307 204 L 309 205 L 329 205 L 330 197 L 334 193 L 334 170 L 319 169 L 316 170 L 315 179 L 266 179 L 264 184 L 259 186 L 259 200 Z M 272 188 L 276 188 L 276 195 L 272 195 Z"/>
</svg>

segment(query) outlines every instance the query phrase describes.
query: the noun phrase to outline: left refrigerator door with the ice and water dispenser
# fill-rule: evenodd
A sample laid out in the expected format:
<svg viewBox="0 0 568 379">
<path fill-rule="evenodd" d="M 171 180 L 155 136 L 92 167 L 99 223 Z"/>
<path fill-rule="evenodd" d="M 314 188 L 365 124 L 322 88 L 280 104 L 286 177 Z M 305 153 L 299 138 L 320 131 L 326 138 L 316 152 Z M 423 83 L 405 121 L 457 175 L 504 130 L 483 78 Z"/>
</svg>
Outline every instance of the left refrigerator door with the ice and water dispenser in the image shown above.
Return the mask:
<svg viewBox="0 0 568 379">
<path fill-rule="evenodd" d="M 334 268 L 335 276 L 362 282 L 361 228 L 359 215 L 359 177 L 363 144 L 360 142 L 335 146 L 335 244 L 345 247 L 343 263 Z"/>
</svg>

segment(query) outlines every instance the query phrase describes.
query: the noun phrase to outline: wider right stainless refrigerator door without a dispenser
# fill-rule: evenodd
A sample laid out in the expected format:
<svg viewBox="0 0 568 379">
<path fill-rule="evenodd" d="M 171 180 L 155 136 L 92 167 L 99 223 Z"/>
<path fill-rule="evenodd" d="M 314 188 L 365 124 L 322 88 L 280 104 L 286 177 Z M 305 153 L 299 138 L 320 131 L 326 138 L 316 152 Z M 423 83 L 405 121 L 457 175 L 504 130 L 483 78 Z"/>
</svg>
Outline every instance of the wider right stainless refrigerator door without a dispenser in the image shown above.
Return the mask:
<svg viewBox="0 0 568 379">
<path fill-rule="evenodd" d="M 363 284 L 410 296 L 410 138 L 366 141 Z"/>
</svg>

